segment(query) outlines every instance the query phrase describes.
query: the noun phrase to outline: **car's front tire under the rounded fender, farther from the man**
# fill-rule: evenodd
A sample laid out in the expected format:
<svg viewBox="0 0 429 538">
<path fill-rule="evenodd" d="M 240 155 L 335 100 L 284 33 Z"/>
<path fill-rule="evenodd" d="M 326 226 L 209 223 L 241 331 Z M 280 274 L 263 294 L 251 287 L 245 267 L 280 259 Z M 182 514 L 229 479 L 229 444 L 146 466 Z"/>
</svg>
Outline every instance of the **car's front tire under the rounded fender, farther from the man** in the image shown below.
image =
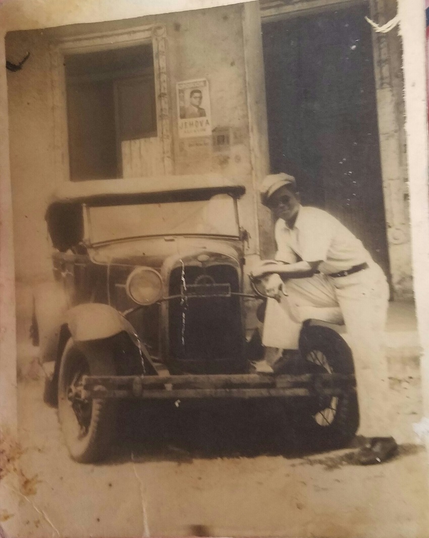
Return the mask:
<svg viewBox="0 0 429 538">
<path fill-rule="evenodd" d="M 58 380 L 58 416 L 70 456 L 80 463 L 95 463 L 106 457 L 114 441 L 117 402 L 74 399 L 72 404 L 70 390 L 83 374 L 116 374 L 113 353 L 106 342 L 77 345 L 70 338 L 61 357 Z"/>
</svg>

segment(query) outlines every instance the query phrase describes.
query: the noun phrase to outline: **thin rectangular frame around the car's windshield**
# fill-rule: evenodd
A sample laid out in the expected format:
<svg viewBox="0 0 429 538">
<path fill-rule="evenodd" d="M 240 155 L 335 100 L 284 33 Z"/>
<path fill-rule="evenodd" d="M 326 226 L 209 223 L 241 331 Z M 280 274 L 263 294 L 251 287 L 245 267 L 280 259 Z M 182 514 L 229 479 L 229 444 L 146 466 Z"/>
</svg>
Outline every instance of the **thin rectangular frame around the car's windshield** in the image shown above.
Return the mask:
<svg viewBox="0 0 429 538">
<path fill-rule="evenodd" d="M 215 195 L 214 195 L 215 196 Z M 84 236 L 83 236 L 83 243 L 87 246 L 102 246 L 102 245 L 108 245 L 112 243 L 121 243 L 121 242 L 127 242 L 131 241 L 133 239 L 142 239 L 142 238 L 154 238 L 154 237 L 207 237 L 207 238 L 224 238 L 224 239 L 239 239 L 241 237 L 241 226 L 239 221 L 239 212 L 238 212 L 238 199 L 235 196 L 231 196 L 228 194 L 228 196 L 232 199 L 233 208 L 234 208 L 234 220 L 235 220 L 235 226 L 237 233 L 234 235 L 228 235 L 228 234 L 222 234 L 222 233 L 156 233 L 156 234 L 141 234 L 141 235 L 135 235 L 135 236 L 128 236 L 128 237 L 121 237 L 121 238 L 114 238 L 114 239 L 106 239 L 102 241 L 93 241 L 91 239 L 91 215 L 90 210 L 92 206 L 90 204 L 82 204 L 83 208 L 83 221 L 84 221 Z M 210 198 L 211 199 L 211 198 Z M 210 200 L 208 199 L 208 200 Z M 180 203 L 180 202 L 194 202 L 195 200 L 173 200 L 174 203 Z M 149 202 L 148 205 L 159 203 L 159 202 Z M 121 206 L 130 206 L 130 205 L 137 205 L 137 204 L 118 204 L 117 206 L 113 207 L 121 207 Z M 97 205 L 97 207 L 112 207 L 111 204 L 103 205 Z"/>
</svg>

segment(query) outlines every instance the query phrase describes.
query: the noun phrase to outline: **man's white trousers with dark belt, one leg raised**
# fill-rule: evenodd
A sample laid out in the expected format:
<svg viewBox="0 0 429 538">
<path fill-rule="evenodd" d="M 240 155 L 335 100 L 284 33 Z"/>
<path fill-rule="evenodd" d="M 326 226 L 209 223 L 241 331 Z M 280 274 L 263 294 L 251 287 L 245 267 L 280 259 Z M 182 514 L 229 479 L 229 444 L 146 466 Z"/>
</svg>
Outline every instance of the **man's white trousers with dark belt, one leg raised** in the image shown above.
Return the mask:
<svg viewBox="0 0 429 538">
<path fill-rule="evenodd" d="M 391 434 L 389 378 L 384 353 L 389 287 L 381 268 L 372 263 L 366 270 L 331 278 L 285 282 L 287 297 L 268 299 L 264 321 L 265 346 L 296 349 L 301 323 L 307 318 L 338 322 L 338 307 L 344 318 L 344 335 L 353 353 L 357 382 L 360 426 L 366 437 Z"/>
</svg>

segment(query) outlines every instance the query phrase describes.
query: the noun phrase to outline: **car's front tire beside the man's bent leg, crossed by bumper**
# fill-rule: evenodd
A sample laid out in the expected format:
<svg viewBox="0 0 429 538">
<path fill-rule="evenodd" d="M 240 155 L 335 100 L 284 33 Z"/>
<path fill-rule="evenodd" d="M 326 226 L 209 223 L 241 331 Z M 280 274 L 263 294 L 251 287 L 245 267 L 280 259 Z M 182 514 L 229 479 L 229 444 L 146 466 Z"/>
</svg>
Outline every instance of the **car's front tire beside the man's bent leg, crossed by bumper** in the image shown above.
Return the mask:
<svg viewBox="0 0 429 538">
<path fill-rule="evenodd" d="M 299 347 L 304 372 L 354 374 L 351 349 L 328 327 L 304 325 Z M 338 397 L 292 400 L 290 407 L 295 440 L 307 449 L 344 448 L 359 427 L 358 398 L 352 389 Z"/>
</svg>

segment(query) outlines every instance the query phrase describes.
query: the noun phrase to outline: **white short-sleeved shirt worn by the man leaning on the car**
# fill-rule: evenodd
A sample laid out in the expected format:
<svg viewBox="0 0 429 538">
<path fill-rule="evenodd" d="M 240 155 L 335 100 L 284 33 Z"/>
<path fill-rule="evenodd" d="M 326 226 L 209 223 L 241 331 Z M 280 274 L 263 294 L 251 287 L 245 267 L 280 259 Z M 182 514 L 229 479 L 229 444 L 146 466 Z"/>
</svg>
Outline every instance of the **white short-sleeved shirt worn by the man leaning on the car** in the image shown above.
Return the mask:
<svg viewBox="0 0 429 538">
<path fill-rule="evenodd" d="M 321 273 L 348 270 L 371 257 L 350 230 L 326 211 L 300 206 L 292 229 L 279 218 L 274 228 L 277 254 L 275 259 L 294 263 L 301 258 L 309 263 L 322 261 Z"/>
</svg>

